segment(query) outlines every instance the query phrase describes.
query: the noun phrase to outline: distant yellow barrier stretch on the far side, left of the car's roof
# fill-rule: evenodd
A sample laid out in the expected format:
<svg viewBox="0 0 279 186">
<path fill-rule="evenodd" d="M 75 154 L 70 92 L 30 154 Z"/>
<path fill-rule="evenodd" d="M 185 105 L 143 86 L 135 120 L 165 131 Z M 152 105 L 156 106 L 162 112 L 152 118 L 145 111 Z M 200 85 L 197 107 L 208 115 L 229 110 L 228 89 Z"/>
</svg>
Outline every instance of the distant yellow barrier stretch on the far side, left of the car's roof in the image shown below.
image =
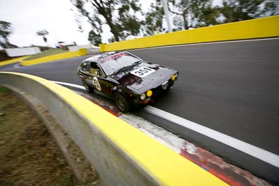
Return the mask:
<svg viewBox="0 0 279 186">
<path fill-rule="evenodd" d="M 61 60 L 61 59 L 69 59 L 69 58 L 73 58 L 73 57 L 84 56 L 86 54 L 87 54 L 86 49 L 79 49 L 76 52 L 65 52 L 65 53 L 61 53 L 61 54 L 44 56 L 44 57 L 41 57 L 38 59 L 22 61 L 20 64 L 24 65 L 24 66 L 25 65 L 36 65 L 36 64 L 40 64 L 40 63 L 47 63 L 47 62 L 52 62 L 52 61 Z"/>
</svg>

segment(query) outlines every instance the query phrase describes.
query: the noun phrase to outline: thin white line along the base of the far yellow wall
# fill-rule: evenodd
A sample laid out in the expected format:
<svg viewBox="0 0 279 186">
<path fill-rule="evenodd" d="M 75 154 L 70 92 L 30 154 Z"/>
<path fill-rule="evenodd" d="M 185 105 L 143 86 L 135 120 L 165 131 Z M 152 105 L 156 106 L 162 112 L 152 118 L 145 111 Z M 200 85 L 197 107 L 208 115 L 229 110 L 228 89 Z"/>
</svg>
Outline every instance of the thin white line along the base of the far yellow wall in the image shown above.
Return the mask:
<svg viewBox="0 0 279 186">
<path fill-rule="evenodd" d="M 218 42 L 202 42 L 202 43 L 194 43 L 194 44 L 184 44 L 184 45 L 170 45 L 170 46 L 162 46 L 162 47 L 150 47 L 144 49 L 160 49 L 160 48 L 169 48 L 169 47 L 184 47 L 184 46 L 193 46 L 193 45 L 213 45 L 220 43 L 229 43 L 229 42 L 250 42 L 250 41 L 258 41 L 258 40 L 279 40 L 279 38 L 264 38 L 264 39 L 255 39 L 255 40 L 228 40 L 228 41 L 218 41 Z M 127 49 L 128 51 L 136 51 L 143 49 Z"/>
</svg>

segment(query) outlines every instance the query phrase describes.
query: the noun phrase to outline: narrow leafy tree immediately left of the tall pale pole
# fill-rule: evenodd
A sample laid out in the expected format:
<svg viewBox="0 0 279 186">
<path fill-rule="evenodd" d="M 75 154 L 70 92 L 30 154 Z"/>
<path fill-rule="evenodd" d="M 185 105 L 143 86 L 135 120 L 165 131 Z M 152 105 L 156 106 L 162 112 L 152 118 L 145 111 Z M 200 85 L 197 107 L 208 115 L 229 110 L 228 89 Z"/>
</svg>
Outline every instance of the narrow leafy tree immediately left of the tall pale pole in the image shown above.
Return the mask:
<svg viewBox="0 0 279 186">
<path fill-rule="evenodd" d="M 163 31 L 163 4 L 160 0 L 151 3 L 151 9 L 145 14 L 145 32 L 153 35 L 156 31 Z"/>
</svg>

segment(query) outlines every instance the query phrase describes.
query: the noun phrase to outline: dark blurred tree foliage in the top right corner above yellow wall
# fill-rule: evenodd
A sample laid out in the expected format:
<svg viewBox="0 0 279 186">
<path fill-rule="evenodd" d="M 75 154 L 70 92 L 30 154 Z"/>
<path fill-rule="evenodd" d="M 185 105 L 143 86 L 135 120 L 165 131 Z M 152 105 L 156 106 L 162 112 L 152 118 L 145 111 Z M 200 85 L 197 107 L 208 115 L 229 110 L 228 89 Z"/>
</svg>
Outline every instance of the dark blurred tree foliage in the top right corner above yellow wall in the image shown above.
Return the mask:
<svg viewBox="0 0 279 186">
<path fill-rule="evenodd" d="M 224 22 L 239 22 L 257 17 L 277 15 L 278 0 L 223 0 L 220 13 L 225 17 Z"/>
</svg>

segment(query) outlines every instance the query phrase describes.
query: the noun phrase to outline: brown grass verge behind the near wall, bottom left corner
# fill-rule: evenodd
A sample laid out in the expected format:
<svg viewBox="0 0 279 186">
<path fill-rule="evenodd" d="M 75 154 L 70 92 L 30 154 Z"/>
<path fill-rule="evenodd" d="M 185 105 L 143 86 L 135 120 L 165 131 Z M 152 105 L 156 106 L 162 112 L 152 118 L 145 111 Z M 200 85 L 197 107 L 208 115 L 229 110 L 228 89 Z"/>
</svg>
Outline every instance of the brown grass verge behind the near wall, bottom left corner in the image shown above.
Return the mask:
<svg viewBox="0 0 279 186">
<path fill-rule="evenodd" d="M 0 185 L 77 185 L 45 125 L 0 86 Z"/>
</svg>

